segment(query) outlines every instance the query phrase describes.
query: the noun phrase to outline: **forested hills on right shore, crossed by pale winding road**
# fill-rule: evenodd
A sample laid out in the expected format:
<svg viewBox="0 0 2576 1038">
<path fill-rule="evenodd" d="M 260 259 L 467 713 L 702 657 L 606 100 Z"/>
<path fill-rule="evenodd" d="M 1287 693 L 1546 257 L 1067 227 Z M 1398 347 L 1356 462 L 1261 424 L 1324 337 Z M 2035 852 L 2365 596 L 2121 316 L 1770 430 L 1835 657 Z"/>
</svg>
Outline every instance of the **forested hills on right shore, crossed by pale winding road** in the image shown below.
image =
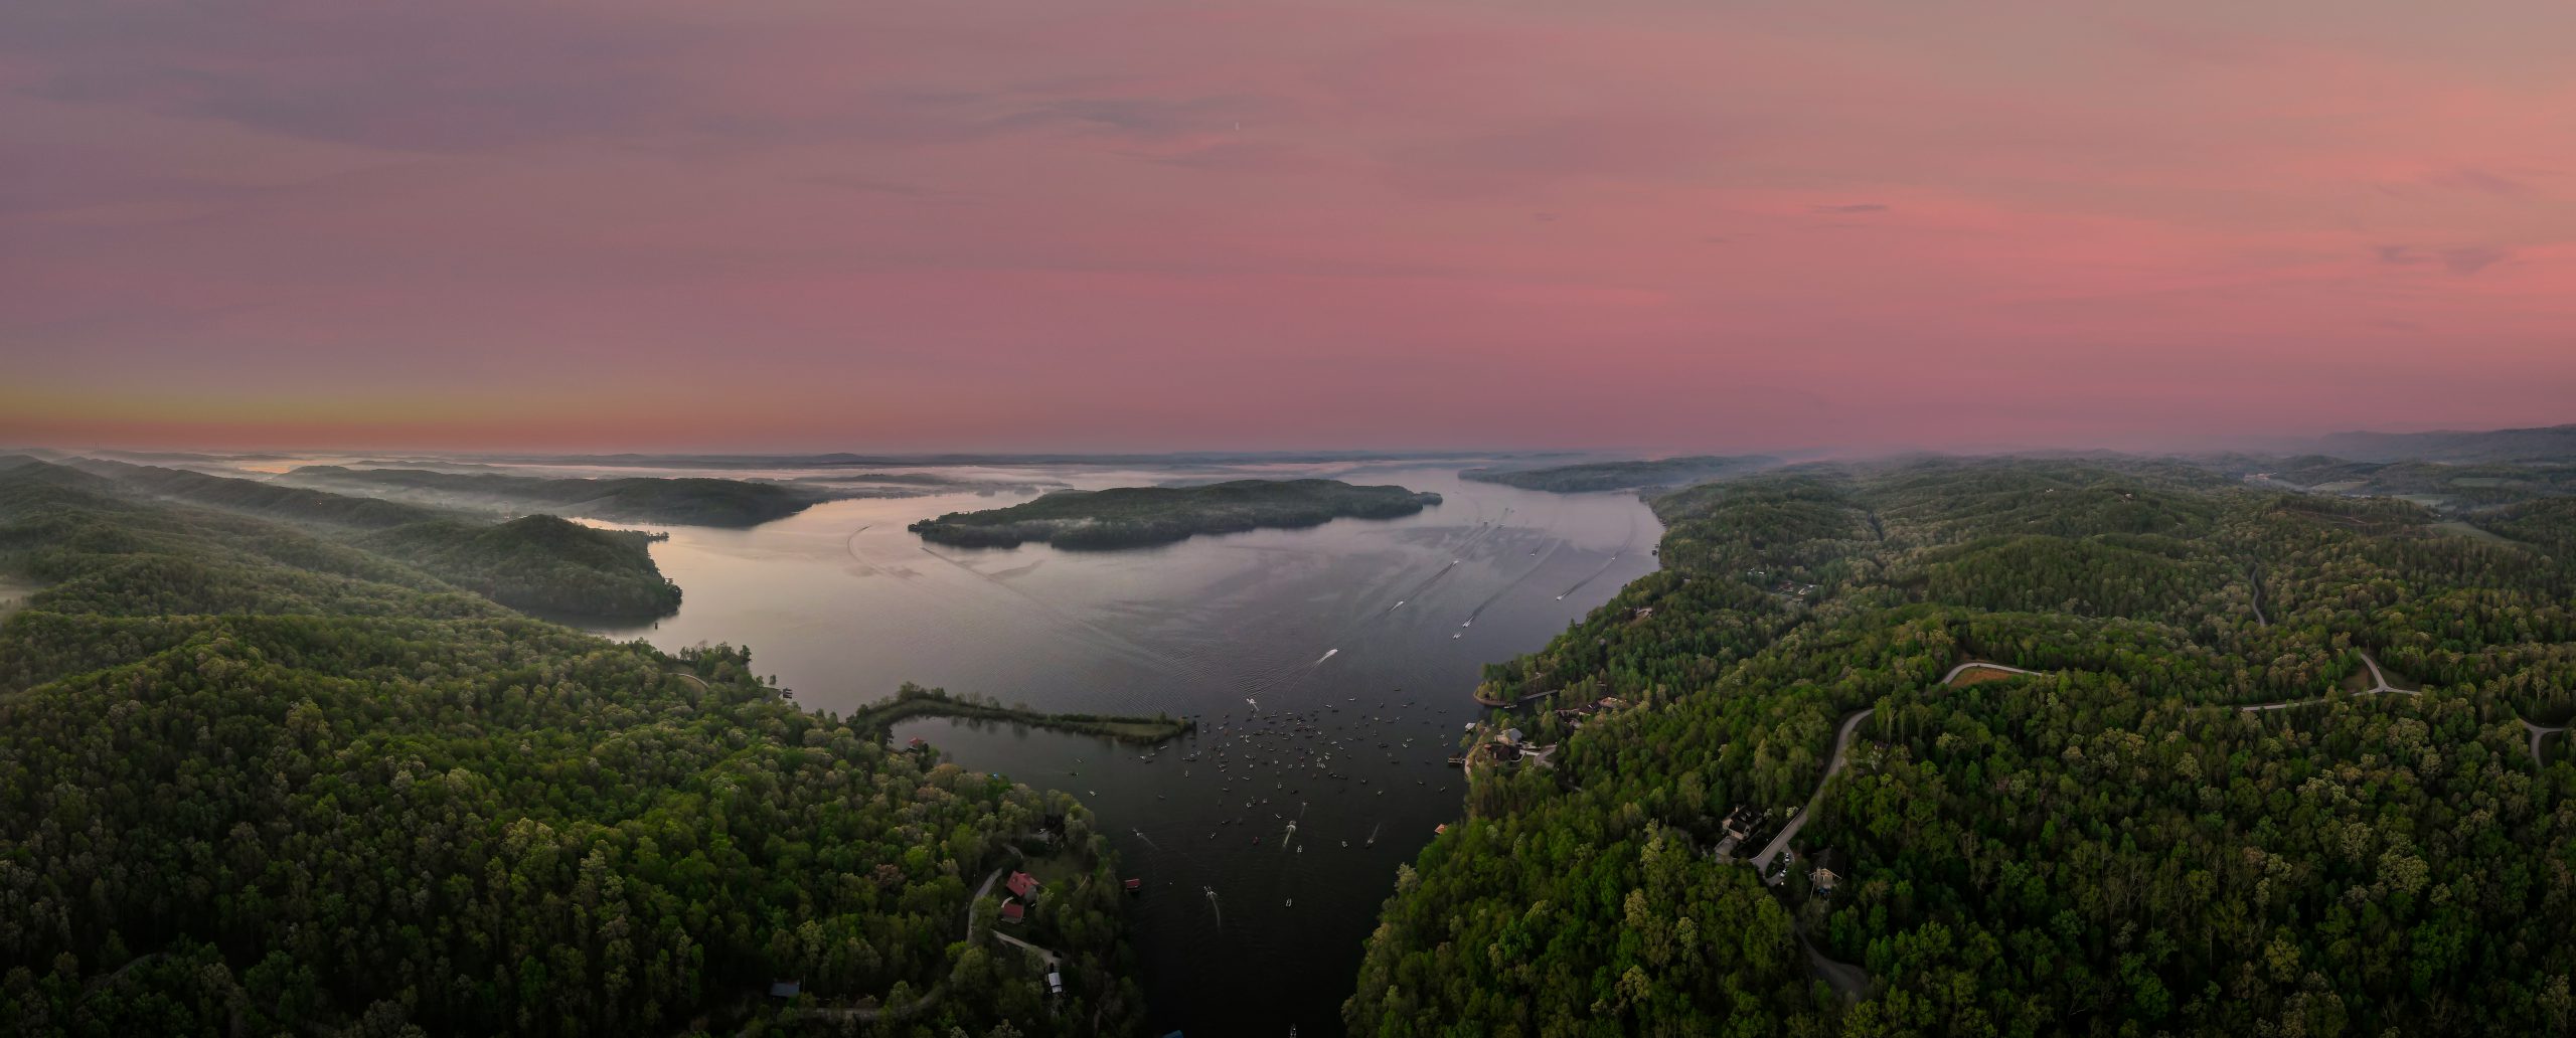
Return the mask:
<svg viewBox="0 0 2576 1038">
<path fill-rule="evenodd" d="M 1404 868 L 1352 1033 L 2576 1025 L 2555 500 L 1924 461 L 1654 507 L 1662 572 L 1489 667 L 1558 747 Z"/>
</svg>

